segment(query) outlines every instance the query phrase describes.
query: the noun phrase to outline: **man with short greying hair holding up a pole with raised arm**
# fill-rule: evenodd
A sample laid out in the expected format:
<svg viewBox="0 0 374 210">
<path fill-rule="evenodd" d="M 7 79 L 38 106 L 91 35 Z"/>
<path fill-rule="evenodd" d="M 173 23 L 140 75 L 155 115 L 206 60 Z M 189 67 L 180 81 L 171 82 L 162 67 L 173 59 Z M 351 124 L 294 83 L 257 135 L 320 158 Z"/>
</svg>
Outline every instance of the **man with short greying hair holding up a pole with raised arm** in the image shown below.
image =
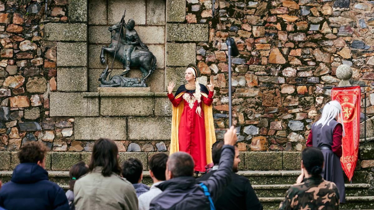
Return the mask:
<svg viewBox="0 0 374 210">
<path fill-rule="evenodd" d="M 220 167 L 208 180 L 203 181 L 208 188 L 212 202 L 215 203 L 231 181 L 234 160 L 236 130 L 232 126 L 224 135 L 224 146 Z M 157 187 L 163 192 L 155 197 L 150 210 L 209 210 L 209 198 L 202 186 L 193 177 L 194 162 L 186 152 L 172 154 L 166 163 L 166 180 Z"/>
</svg>

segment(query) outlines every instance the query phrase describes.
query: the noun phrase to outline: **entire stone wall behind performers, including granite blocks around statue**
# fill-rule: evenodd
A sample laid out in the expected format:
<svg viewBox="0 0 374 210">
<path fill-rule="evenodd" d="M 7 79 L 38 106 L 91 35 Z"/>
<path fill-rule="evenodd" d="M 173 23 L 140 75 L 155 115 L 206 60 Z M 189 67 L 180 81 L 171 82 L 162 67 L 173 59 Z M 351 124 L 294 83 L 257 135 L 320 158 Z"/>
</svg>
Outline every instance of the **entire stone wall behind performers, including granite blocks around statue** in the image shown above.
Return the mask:
<svg viewBox="0 0 374 210">
<path fill-rule="evenodd" d="M 301 151 L 330 98 L 329 90 L 316 87 L 336 86 L 339 65 L 352 67 L 352 85 L 373 84 L 373 4 L 217 0 L 212 18 L 211 0 L 54 0 L 45 18 L 44 2 L 1 1 L 0 150 L 9 154 L 38 140 L 56 154 L 83 154 L 95 139 L 110 137 L 121 152 L 167 151 L 171 104 L 163 92 L 170 81 L 184 84 L 190 62 L 202 71 L 200 83 L 215 84 L 216 136 L 222 139 L 228 126 L 225 41 L 234 37 L 240 56 L 232 59 L 233 124 L 240 151 Z M 107 28 L 127 6 L 133 9 L 125 19 L 135 19 L 157 57 L 151 93 L 96 92 Z M 111 57 L 105 59 L 111 65 Z M 113 74 L 122 68 L 115 62 Z M 373 100 L 368 94 L 369 118 Z"/>
</svg>

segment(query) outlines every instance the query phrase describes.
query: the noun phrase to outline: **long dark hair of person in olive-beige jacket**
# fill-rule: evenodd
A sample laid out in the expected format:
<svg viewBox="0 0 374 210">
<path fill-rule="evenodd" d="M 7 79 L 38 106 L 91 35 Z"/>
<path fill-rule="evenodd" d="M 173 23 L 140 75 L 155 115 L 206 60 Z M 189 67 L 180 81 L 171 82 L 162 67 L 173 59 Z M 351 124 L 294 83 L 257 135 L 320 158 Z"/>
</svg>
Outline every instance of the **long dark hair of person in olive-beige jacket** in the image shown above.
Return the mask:
<svg viewBox="0 0 374 210">
<path fill-rule="evenodd" d="M 102 176 L 110 176 L 112 173 L 120 175 L 121 168 L 118 164 L 118 148 L 111 139 L 100 138 L 93 145 L 89 171 L 101 166 Z"/>
</svg>

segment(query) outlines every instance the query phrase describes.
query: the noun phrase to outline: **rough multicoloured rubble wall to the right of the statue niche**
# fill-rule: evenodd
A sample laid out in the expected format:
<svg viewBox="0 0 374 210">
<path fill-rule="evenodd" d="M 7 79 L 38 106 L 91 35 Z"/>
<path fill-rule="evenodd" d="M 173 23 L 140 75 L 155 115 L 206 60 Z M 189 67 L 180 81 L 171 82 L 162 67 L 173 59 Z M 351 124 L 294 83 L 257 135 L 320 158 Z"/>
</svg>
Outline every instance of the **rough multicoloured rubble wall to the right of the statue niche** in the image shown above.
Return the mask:
<svg viewBox="0 0 374 210">
<path fill-rule="evenodd" d="M 240 151 L 301 151 L 330 100 L 331 90 L 316 87 L 337 86 L 339 65 L 352 67 L 352 85 L 374 84 L 373 1 L 220 0 L 214 6 L 212 18 L 211 1 L 187 0 L 186 19 L 173 18 L 166 35 L 182 42 L 176 31 L 186 26 L 176 22 L 209 25 L 209 41 L 196 41 L 196 59 L 216 87 L 219 137 L 228 126 L 225 41 L 234 37 L 240 55 L 232 59 L 233 124 L 240 129 Z M 178 11 L 181 17 L 184 11 Z M 188 40 L 189 34 L 180 37 Z M 366 117 L 374 114 L 373 99 L 368 93 Z M 364 112 L 363 98 L 361 104 Z M 371 125 L 368 137 L 373 136 Z M 363 123 L 361 128 L 364 138 Z"/>
</svg>

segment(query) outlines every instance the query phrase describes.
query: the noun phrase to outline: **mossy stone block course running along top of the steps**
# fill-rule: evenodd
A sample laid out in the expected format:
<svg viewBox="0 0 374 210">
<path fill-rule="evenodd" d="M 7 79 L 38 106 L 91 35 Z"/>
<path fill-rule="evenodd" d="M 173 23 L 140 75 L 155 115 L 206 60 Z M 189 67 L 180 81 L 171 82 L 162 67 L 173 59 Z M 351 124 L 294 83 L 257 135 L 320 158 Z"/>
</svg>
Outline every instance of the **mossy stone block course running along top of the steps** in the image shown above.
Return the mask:
<svg viewBox="0 0 374 210">
<path fill-rule="evenodd" d="M 374 160 L 374 142 L 369 142 L 360 149 L 362 160 Z M 119 162 L 130 157 L 138 158 L 148 170 L 148 158 L 155 152 L 119 152 Z M 274 171 L 274 170 L 299 170 L 300 152 L 239 152 L 239 170 L 241 171 Z M 0 170 L 13 170 L 18 164 L 17 152 L 0 151 Z M 79 161 L 89 163 L 91 152 L 48 152 L 46 155 L 46 170 L 67 171 Z M 356 170 L 361 170 L 359 161 Z"/>
</svg>

